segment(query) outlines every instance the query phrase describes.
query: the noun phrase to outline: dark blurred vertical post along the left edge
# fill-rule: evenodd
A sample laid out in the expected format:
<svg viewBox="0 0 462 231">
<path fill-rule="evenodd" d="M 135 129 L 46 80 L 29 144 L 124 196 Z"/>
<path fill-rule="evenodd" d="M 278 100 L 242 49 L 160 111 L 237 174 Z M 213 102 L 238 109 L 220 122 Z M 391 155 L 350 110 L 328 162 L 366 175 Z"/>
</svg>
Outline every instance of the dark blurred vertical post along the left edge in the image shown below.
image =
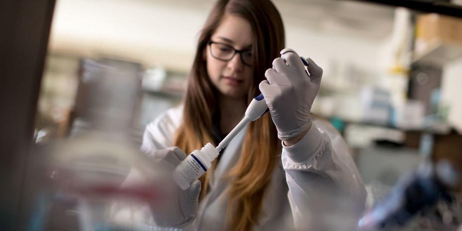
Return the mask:
<svg viewBox="0 0 462 231">
<path fill-rule="evenodd" d="M 55 0 L 2 0 L 0 7 L 0 230 L 25 224 L 25 163 Z"/>
</svg>

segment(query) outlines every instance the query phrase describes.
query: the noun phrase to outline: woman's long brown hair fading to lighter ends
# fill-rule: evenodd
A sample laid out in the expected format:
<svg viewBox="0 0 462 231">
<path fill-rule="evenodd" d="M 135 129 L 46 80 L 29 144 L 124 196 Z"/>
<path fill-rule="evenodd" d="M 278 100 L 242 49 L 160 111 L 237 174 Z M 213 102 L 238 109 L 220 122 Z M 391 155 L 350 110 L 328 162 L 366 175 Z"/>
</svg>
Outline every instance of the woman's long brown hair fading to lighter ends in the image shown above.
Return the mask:
<svg viewBox="0 0 462 231">
<path fill-rule="evenodd" d="M 259 93 L 258 84 L 265 78 L 265 70 L 271 67 L 273 59 L 284 48 L 282 19 L 270 0 L 217 1 L 199 37 L 184 98 L 183 121 L 175 136 L 175 145 L 186 153 L 200 149 L 208 142 L 215 143 L 212 118 L 218 110 L 219 93 L 207 74 L 203 54 L 207 42 L 226 13 L 247 20 L 253 31 L 254 79 L 248 89 L 247 103 Z M 228 222 L 232 231 L 251 231 L 258 224 L 265 188 L 270 182 L 280 152 L 281 143 L 269 113 L 251 122 L 240 157 L 227 176 L 231 180 L 228 188 Z M 201 197 L 207 193 L 213 169 L 214 167 L 201 177 Z"/>
</svg>

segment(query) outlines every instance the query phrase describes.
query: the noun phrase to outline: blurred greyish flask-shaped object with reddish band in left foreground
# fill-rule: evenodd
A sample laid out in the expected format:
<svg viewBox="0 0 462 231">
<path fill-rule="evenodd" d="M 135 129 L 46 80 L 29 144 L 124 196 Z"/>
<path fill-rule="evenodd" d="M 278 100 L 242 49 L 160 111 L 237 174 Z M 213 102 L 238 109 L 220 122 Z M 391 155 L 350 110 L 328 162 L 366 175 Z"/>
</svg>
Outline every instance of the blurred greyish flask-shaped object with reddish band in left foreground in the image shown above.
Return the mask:
<svg viewBox="0 0 462 231">
<path fill-rule="evenodd" d="M 49 229 L 140 230 L 143 224 L 120 223 L 115 203 L 143 207 L 171 193 L 168 179 L 153 159 L 140 153 L 133 130 L 141 92 L 141 66 L 101 59 L 80 62 L 76 108 L 68 138 L 38 143 L 31 164 L 40 183 L 32 197 L 27 231 Z M 122 187 L 137 169 L 149 183 Z"/>
</svg>

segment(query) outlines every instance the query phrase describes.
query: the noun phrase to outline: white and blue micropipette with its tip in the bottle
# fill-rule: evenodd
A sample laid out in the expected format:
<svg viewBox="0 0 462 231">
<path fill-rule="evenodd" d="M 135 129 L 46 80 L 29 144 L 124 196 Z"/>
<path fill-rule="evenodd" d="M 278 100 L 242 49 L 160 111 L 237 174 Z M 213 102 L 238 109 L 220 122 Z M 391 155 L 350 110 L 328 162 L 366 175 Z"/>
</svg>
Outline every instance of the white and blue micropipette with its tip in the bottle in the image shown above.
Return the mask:
<svg viewBox="0 0 462 231">
<path fill-rule="evenodd" d="M 308 63 L 305 58 L 300 57 L 302 59 L 303 64 L 305 65 L 305 69 L 308 67 Z M 305 70 L 308 74 L 308 70 Z M 250 104 L 248 105 L 247 109 L 245 110 L 244 118 L 231 130 L 231 132 L 223 139 L 222 142 L 215 148 L 217 152 L 220 153 L 234 138 L 237 133 L 242 130 L 242 128 L 247 125 L 250 121 L 255 121 L 258 118 L 262 117 L 266 112 L 269 111 L 268 106 L 266 105 L 266 101 L 263 100 L 264 96 L 260 93 L 257 97 L 253 98 Z"/>
</svg>

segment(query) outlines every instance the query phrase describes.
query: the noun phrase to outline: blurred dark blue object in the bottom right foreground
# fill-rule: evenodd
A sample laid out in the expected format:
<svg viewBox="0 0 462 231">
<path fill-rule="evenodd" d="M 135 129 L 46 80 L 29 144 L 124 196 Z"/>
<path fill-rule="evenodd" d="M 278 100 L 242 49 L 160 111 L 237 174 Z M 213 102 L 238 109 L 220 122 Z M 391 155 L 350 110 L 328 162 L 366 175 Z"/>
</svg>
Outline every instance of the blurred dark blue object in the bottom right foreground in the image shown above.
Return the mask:
<svg viewBox="0 0 462 231">
<path fill-rule="evenodd" d="M 376 204 L 359 221 L 360 231 L 397 230 L 407 226 L 418 215 L 430 218 L 429 211 L 437 209 L 437 203 L 443 202 L 446 207 L 457 204 L 451 190 L 460 190 L 461 173 L 445 160 L 437 164 L 430 162 L 421 164 L 411 173 L 401 177 L 389 196 Z M 441 216 L 443 224 L 437 229 L 456 230 L 462 221 L 461 208 L 453 208 L 456 214 L 447 209 Z M 455 216 L 455 218 L 453 218 Z M 429 222 L 436 223 L 436 222 Z"/>
</svg>

